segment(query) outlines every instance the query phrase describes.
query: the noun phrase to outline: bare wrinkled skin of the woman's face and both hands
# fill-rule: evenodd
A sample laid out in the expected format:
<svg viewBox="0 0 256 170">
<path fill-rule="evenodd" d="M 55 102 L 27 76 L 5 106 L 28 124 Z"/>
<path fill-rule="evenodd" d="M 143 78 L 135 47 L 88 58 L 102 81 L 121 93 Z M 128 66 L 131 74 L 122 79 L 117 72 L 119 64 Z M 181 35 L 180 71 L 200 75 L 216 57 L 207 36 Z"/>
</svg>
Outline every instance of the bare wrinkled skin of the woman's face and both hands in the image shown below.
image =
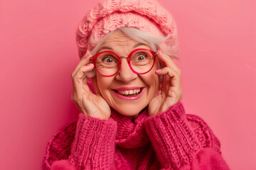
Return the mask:
<svg viewBox="0 0 256 170">
<path fill-rule="evenodd" d="M 114 33 L 100 46 L 101 51 L 112 50 L 119 56 L 127 56 L 136 48 L 150 49 L 148 45 L 138 44 L 121 32 Z M 181 70 L 176 67 L 171 57 L 159 50 L 156 63 L 150 72 L 135 74 L 129 68 L 126 58 L 122 58 L 119 72 L 113 77 L 103 77 L 96 72 L 92 78 L 96 94 L 87 86 L 86 72 L 90 72 L 94 65 L 90 63 L 90 52 L 82 57 L 72 74 L 72 100 L 85 115 L 107 120 L 110 118 L 110 107 L 129 118 L 137 118 L 139 112 L 148 106 L 149 115 L 162 113 L 183 97 L 181 89 Z M 160 63 L 163 68 L 160 69 Z M 161 82 L 159 76 L 163 76 Z M 144 87 L 142 96 L 136 100 L 118 98 L 112 89 L 120 87 Z"/>
</svg>

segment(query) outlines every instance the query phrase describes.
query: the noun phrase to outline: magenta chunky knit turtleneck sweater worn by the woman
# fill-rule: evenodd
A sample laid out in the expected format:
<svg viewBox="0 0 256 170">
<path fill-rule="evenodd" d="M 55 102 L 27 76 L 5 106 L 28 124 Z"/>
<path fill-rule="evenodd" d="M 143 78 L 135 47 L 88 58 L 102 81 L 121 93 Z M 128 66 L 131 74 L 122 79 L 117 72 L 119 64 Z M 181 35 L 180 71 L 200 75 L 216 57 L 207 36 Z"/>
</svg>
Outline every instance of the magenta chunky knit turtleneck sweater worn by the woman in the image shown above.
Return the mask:
<svg viewBox="0 0 256 170">
<path fill-rule="evenodd" d="M 48 142 L 43 170 L 49 169 L 229 168 L 212 130 L 178 102 L 155 116 L 145 109 L 134 122 L 116 111 L 109 120 L 80 113 Z"/>
</svg>

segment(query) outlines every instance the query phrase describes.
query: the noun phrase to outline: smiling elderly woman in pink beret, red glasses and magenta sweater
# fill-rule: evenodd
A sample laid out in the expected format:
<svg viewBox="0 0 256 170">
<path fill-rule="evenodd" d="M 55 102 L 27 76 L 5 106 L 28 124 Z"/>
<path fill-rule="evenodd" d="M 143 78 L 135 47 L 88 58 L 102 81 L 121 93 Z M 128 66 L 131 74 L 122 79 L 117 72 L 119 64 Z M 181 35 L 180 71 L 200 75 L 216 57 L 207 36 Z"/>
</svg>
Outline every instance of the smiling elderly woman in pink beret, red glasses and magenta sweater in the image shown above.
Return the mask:
<svg viewBox="0 0 256 170">
<path fill-rule="evenodd" d="M 156 1 L 102 1 L 77 42 L 80 115 L 48 142 L 43 169 L 228 169 L 208 125 L 184 111 L 176 25 Z"/>
</svg>

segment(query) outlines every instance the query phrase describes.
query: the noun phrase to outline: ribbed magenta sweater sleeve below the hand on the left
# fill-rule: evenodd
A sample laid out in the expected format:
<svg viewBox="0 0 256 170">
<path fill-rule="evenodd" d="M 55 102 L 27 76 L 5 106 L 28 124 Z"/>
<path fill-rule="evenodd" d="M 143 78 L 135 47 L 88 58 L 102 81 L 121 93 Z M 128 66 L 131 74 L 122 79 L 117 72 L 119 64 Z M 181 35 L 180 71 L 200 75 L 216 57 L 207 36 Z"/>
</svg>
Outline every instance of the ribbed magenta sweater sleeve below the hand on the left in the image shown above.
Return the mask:
<svg viewBox="0 0 256 170">
<path fill-rule="evenodd" d="M 117 123 L 79 115 L 68 159 L 53 162 L 51 170 L 114 169 Z"/>
</svg>

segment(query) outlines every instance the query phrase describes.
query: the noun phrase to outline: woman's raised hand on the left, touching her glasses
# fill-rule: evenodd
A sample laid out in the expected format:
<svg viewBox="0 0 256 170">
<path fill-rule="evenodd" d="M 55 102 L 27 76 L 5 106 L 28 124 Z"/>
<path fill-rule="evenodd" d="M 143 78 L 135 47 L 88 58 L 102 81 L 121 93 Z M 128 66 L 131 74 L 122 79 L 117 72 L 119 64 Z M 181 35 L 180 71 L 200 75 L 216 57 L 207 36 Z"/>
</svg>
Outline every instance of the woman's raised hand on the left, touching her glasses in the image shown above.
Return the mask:
<svg viewBox="0 0 256 170">
<path fill-rule="evenodd" d="M 87 51 L 72 73 L 73 93 L 71 99 L 85 115 L 107 120 L 111 114 L 110 106 L 100 94 L 93 94 L 87 85 L 85 74 L 92 71 L 94 67 L 93 64 L 90 64 L 89 54 L 90 52 Z"/>
</svg>

